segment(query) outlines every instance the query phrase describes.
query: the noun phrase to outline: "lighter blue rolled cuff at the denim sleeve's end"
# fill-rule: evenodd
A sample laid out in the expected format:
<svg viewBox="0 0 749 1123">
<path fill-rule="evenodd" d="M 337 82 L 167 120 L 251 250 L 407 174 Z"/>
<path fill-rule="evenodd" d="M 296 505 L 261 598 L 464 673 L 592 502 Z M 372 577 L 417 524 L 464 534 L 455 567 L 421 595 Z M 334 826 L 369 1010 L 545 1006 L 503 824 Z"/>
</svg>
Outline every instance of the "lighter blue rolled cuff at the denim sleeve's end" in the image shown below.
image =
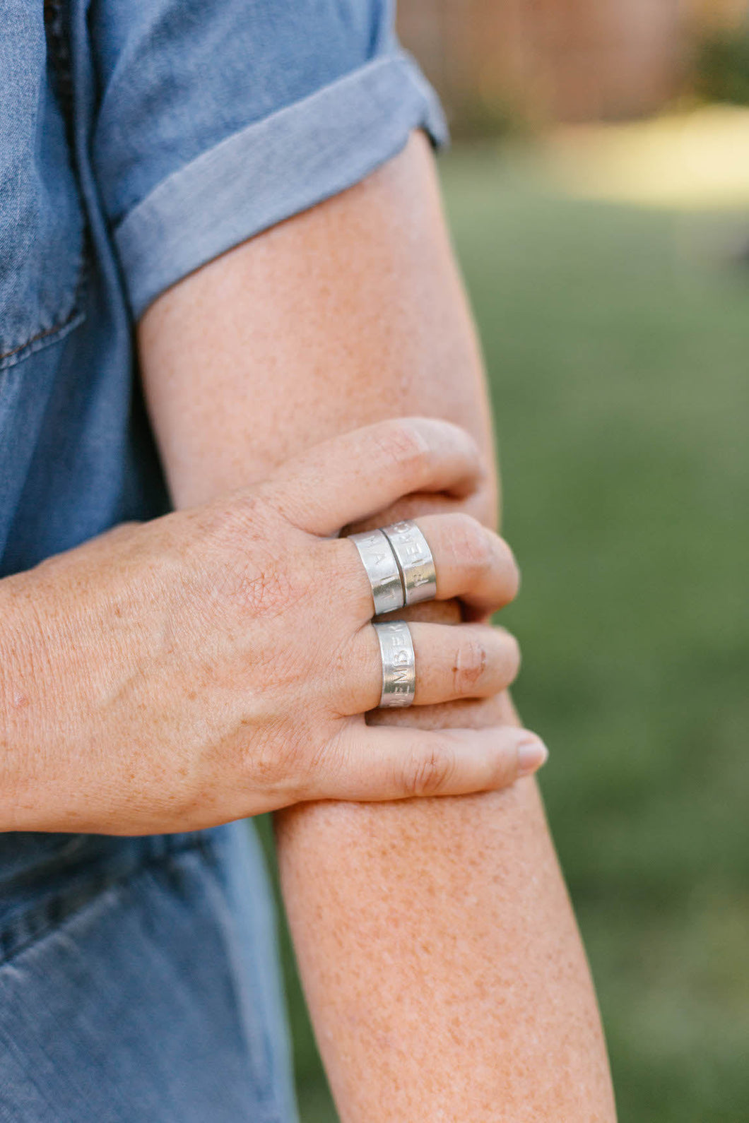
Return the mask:
<svg viewBox="0 0 749 1123">
<path fill-rule="evenodd" d="M 115 231 L 135 318 L 205 262 L 358 182 L 420 127 L 436 146 L 447 143 L 437 95 L 398 52 L 202 153 Z"/>
</svg>

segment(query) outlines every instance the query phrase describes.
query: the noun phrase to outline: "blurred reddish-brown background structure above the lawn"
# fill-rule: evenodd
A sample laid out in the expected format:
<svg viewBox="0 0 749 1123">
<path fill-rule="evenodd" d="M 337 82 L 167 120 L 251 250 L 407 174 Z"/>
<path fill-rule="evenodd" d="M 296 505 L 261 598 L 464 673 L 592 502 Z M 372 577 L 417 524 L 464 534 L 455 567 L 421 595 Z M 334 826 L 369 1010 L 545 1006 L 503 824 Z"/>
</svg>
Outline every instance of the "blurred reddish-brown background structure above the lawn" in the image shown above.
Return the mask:
<svg viewBox="0 0 749 1123">
<path fill-rule="evenodd" d="M 459 127 L 639 117 L 688 86 L 694 43 L 749 0 L 400 0 L 399 30 Z"/>
</svg>

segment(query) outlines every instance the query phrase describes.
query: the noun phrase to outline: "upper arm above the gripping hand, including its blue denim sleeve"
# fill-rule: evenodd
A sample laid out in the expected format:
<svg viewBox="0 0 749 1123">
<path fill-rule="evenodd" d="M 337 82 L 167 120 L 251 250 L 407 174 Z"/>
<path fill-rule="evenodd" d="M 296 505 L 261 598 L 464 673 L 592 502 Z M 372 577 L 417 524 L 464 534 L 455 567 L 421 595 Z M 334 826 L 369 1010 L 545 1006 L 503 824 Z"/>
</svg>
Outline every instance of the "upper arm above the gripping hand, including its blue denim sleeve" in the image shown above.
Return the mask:
<svg viewBox="0 0 749 1123">
<path fill-rule="evenodd" d="M 228 482 L 220 457 L 194 468 L 216 428 L 243 481 L 414 408 L 488 447 L 426 139 L 445 122 L 392 20 L 390 0 L 92 0 L 92 162 L 177 503 Z"/>
</svg>

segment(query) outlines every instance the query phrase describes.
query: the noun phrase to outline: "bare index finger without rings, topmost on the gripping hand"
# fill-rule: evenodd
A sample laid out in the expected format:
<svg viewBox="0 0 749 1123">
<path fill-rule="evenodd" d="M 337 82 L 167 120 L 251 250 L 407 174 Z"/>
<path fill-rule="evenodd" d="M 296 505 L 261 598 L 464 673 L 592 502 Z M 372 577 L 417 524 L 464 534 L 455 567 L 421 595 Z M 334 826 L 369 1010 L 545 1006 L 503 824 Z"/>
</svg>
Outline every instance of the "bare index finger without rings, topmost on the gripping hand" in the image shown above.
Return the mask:
<svg viewBox="0 0 749 1123">
<path fill-rule="evenodd" d="M 484 475 L 463 429 L 431 418 L 399 418 L 356 429 L 287 460 L 268 481 L 294 526 L 331 535 L 412 492 L 471 494 Z"/>
</svg>

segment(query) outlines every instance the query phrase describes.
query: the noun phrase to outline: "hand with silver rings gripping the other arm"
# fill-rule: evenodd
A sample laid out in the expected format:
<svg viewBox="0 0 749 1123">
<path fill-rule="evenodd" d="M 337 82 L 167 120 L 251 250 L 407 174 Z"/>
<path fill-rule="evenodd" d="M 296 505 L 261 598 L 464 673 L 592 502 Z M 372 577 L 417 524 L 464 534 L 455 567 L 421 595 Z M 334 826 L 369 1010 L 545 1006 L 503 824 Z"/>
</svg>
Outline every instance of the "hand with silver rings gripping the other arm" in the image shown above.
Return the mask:
<svg viewBox="0 0 749 1123">
<path fill-rule="evenodd" d="M 472 439 L 386 421 L 273 477 L 124 523 L 0 582 L 9 830 L 193 830 L 307 800 L 396 800 L 512 783 L 545 759 L 526 730 L 368 727 L 380 701 L 368 578 L 334 537 L 411 492 L 469 494 Z M 465 514 L 419 520 L 440 599 L 476 614 L 515 564 Z M 518 649 L 478 623 L 412 624 L 415 704 L 509 685 Z"/>
</svg>

